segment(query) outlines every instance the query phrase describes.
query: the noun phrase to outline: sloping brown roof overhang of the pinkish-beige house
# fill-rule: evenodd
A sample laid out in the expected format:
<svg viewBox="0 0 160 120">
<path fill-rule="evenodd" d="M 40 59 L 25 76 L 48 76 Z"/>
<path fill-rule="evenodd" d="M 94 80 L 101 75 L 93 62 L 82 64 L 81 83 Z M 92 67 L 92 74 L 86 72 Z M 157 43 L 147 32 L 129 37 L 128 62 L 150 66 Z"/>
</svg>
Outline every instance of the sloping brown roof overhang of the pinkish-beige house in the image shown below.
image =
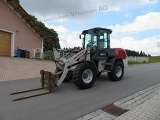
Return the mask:
<svg viewBox="0 0 160 120">
<path fill-rule="evenodd" d="M 16 12 L 22 20 L 28 24 L 32 30 L 35 31 L 45 43 L 49 43 L 51 39 L 48 35 L 36 24 L 36 22 L 30 17 L 30 15 L 22 8 L 22 6 L 17 2 L 17 0 L 4 0 L 14 12 Z"/>
</svg>

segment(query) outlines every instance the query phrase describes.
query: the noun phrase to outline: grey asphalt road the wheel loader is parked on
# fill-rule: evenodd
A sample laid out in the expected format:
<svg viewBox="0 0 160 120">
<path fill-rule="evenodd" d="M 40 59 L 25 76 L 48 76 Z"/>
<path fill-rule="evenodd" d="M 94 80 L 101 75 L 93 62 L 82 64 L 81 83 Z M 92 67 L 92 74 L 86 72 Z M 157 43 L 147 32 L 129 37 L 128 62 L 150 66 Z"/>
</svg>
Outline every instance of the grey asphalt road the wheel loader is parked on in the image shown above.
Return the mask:
<svg viewBox="0 0 160 120">
<path fill-rule="evenodd" d="M 160 63 L 128 67 L 122 81 L 102 74 L 94 86 L 79 90 L 64 83 L 51 94 L 13 102 L 17 90 L 40 86 L 39 78 L 0 82 L 0 120 L 74 120 L 160 82 Z M 44 92 L 40 90 L 37 92 Z M 32 93 L 37 93 L 32 92 Z"/>
</svg>

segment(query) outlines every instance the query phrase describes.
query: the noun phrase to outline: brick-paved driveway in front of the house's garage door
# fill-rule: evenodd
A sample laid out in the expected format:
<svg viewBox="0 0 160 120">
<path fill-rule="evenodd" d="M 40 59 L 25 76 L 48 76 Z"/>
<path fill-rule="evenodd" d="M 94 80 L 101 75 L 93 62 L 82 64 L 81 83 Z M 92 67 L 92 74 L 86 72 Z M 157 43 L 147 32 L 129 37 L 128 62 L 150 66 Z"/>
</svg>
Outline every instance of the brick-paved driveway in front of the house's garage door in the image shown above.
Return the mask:
<svg viewBox="0 0 160 120">
<path fill-rule="evenodd" d="M 29 58 L 0 57 L 0 81 L 40 77 L 40 70 L 53 72 L 55 64 Z"/>
</svg>

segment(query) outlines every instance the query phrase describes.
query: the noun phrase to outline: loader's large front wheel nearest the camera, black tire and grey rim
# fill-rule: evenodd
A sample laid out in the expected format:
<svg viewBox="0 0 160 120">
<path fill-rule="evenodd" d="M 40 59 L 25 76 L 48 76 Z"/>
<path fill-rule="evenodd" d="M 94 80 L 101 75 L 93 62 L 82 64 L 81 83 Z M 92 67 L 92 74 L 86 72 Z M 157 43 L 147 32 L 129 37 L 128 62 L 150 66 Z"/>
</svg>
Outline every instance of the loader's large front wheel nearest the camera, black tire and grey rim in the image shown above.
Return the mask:
<svg viewBox="0 0 160 120">
<path fill-rule="evenodd" d="M 93 64 L 81 63 L 76 66 L 73 81 L 80 89 L 92 87 L 96 79 L 96 70 Z"/>
</svg>

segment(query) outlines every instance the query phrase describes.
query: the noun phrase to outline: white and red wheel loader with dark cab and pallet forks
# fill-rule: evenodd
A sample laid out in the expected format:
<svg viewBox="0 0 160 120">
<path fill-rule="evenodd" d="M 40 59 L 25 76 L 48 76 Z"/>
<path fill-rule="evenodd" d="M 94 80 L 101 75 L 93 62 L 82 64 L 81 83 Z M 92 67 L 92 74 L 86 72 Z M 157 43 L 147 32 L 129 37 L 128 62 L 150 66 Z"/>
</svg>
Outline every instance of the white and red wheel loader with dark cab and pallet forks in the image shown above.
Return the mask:
<svg viewBox="0 0 160 120">
<path fill-rule="evenodd" d="M 82 39 L 82 49 L 68 50 L 68 54 L 60 57 L 56 48 L 53 48 L 55 72 L 41 70 L 41 88 L 47 85 L 48 94 L 51 89 L 58 87 L 62 82 L 73 80 L 80 89 L 87 89 L 93 86 L 96 77 L 107 72 L 112 81 L 119 81 L 123 78 L 124 68 L 128 66 L 126 51 L 122 48 L 110 47 L 111 29 L 92 28 L 82 31 L 79 38 Z M 33 89 L 37 90 L 37 89 Z M 18 94 L 27 91 L 15 92 Z M 38 95 L 25 96 L 15 100 L 25 99 Z"/>
</svg>

